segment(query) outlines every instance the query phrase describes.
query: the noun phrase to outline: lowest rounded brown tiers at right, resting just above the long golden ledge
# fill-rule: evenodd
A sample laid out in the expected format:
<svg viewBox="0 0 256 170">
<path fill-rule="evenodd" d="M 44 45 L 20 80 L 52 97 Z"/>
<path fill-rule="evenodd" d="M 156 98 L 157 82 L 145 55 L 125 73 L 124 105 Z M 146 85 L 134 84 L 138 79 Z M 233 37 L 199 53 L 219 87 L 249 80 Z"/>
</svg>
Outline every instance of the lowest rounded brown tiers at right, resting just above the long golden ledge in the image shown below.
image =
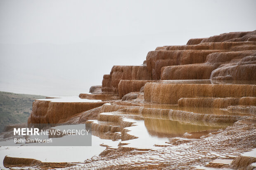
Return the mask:
<svg viewBox="0 0 256 170">
<path fill-rule="evenodd" d="M 230 76 L 222 78 L 227 80 L 255 80 L 256 75 L 253 72 L 255 62 L 243 62 L 252 58 L 249 56 L 254 55 L 255 52 L 252 50 L 212 53 L 207 56 L 205 63 L 166 66 L 161 68 L 161 80 L 217 79 L 216 77 L 220 76 Z"/>
</svg>

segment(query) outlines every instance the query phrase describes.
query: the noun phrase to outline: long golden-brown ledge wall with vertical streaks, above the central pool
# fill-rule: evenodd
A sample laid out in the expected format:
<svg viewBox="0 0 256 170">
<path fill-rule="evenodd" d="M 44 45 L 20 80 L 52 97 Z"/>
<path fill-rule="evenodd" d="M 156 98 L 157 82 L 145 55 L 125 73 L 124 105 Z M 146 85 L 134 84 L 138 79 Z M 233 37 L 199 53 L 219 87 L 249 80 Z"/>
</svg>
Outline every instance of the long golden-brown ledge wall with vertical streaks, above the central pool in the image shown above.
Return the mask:
<svg viewBox="0 0 256 170">
<path fill-rule="evenodd" d="M 256 97 L 256 85 L 147 83 L 144 88 L 145 101 L 163 104 L 178 104 L 180 98 L 244 96 Z"/>
</svg>

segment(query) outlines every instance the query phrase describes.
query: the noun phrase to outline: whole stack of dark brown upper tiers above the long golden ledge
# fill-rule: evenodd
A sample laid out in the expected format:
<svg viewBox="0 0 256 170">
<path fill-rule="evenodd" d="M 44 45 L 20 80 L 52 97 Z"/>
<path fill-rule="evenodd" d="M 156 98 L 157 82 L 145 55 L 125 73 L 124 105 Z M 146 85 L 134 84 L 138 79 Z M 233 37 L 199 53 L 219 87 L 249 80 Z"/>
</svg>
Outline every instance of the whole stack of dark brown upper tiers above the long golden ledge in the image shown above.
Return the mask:
<svg viewBox="0 0 256 170">
<path fill-rule="evenodd" d="M 120 80 L 255 81 L 255 56 L 256 30 L 190 39 L 186 45 L 157 47 L 155 51 L 149 51 L 141 66 L 114 66 L 110 75 L 103 77 L 102 91 L 119 93 L 122 98 L 138 91 L 142 84 L 129 82 L 124 85 Z"/>
</svg>

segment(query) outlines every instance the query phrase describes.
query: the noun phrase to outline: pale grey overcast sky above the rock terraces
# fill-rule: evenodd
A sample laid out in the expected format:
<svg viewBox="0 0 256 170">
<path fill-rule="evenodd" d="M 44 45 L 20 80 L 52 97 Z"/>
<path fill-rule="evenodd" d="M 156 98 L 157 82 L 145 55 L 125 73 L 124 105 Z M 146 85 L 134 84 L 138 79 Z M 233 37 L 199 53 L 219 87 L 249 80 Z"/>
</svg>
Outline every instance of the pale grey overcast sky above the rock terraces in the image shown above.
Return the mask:
<svg viewBox="0 0 256 170">
<path fill-rule="evenodd" d="M 113 65 L 196 37 L 256 30 L 255 0 L 0 0 L 0 91 L 79 95 Z"/>
</svg>

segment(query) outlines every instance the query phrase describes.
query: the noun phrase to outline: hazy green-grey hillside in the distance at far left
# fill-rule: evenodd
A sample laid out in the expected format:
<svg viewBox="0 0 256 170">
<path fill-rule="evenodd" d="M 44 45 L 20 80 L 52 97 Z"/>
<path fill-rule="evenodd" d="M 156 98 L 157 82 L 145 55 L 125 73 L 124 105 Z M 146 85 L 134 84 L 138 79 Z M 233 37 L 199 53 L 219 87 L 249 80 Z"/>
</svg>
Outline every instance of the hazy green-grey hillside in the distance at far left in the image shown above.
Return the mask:
<svg viewBox="0 0 256 170">
<path fill-rule="evenodd" d="M 0 132 L 8 124 L 26 123 L 33 101 L 39 98 L 45 98 L 45 96 L 0 91 Z"/>
</svg>

